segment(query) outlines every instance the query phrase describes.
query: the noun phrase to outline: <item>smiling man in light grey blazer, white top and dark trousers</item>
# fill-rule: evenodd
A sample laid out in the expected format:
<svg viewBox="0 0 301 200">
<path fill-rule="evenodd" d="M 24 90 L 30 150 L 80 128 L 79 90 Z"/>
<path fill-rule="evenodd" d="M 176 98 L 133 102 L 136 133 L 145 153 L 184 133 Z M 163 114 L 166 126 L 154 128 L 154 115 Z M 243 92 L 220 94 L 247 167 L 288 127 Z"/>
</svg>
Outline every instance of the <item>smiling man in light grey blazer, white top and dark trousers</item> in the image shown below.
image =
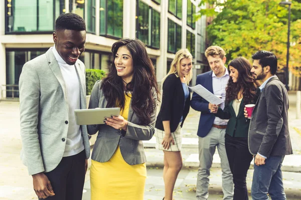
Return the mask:
<svg viewBox="0 0 301 200">
<path fill-rule="evenodd" d="M 24 64 L 20 76 L 21 158 L 39 199 L 82 199 L 90 145 L 74 109 L 86 108 L 86 25 L 74 13 L 60 15 L 54 46 Z"/>
</svg>

